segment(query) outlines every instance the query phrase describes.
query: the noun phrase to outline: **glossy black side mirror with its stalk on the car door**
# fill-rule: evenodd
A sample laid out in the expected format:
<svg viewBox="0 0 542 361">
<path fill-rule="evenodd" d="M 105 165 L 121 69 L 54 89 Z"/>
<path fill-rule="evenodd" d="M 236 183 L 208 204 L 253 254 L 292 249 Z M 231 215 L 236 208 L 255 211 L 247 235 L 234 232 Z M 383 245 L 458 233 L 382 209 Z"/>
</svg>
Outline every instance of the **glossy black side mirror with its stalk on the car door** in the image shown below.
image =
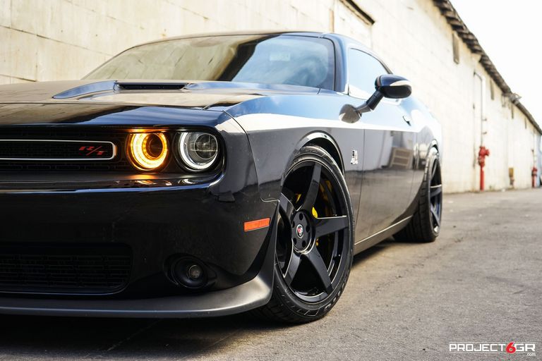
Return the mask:
<svg viewBox="0 0 542 361">
<path fill-rule="evenodd" d="M 356 108 L 359 114 L 375 110 L 382 98 L 402 99 L 409 97 L 412 94 L 412 86 L 409 80 L 402 76 L 385 74 L 380 75 L 375 80 L 375 92 L 367 102 Z"/>
</svg>

